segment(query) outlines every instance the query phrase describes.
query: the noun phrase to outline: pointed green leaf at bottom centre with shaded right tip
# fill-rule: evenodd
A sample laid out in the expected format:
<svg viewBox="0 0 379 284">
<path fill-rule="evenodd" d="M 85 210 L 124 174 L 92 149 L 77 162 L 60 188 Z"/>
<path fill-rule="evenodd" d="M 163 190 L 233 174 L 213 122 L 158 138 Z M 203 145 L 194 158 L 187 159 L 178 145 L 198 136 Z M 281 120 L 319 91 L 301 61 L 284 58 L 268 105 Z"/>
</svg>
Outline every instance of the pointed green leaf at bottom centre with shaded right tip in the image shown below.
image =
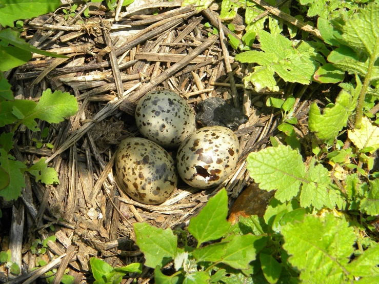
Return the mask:
<svg viewBox="0 0 379 284">
<path fill-rule="evenodd" d="M 267 237 L 247 235 L 233 236 L 225 247 L 222 262 L 235 269 L 248 269 L 249 262 L 267 244 Z"/>
</svg>

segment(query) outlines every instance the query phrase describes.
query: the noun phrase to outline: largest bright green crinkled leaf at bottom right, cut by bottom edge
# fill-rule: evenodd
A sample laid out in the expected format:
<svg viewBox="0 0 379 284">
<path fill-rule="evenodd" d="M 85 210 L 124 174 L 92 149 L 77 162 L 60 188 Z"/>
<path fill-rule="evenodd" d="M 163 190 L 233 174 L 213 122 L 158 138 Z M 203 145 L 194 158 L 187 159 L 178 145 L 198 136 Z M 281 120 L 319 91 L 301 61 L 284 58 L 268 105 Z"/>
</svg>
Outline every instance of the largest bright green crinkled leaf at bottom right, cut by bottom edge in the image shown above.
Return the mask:
<svg viewBox="0 0 379 284">
<path fill-rule="evenodd" d="M 288 261 L 301 271 L 300 279 L 309 283 L 345 283 L 346 267 L 354 252 L 356 236 L 349 223 L 333 213 L 325 217 L 306 215 L 304 222 L 282 227 L 283 248 Z"/>
</svg>

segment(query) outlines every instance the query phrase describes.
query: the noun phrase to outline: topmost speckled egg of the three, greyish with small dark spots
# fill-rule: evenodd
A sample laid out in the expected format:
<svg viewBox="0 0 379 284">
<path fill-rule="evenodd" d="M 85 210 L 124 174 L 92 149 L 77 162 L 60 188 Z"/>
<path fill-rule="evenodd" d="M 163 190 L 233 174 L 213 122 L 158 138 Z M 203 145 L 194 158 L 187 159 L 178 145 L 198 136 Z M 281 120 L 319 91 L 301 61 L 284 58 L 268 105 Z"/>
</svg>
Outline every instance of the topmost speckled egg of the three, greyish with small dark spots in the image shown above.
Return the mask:
<svg viewBox="0 0 379 284">
<path fill-rule="evenodd" d="M 141 98 L 135 109 L 139 132 L 162 147 L 176 148 L 195 131 L 195 115 L 185 99 L 169 90 Z"/>
</svg>

